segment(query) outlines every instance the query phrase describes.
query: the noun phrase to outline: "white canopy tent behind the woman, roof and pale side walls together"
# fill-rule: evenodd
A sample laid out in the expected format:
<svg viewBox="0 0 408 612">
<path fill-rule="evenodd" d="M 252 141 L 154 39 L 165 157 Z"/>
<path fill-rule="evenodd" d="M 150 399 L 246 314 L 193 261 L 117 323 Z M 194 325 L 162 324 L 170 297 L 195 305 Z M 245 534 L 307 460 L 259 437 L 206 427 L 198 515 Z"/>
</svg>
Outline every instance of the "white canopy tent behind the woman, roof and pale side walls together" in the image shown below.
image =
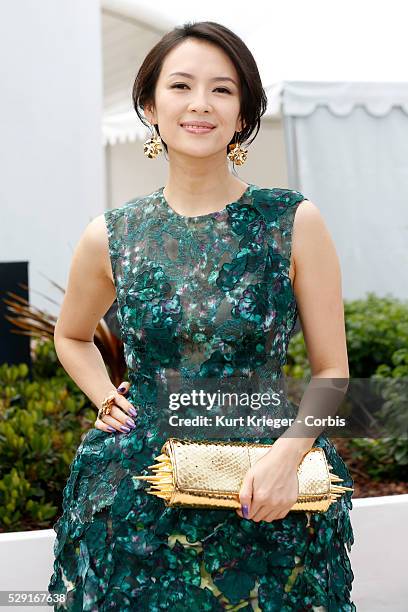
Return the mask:
<svg viewBox="0 0 408 612">
<path fill-rule="evenodd" d="M 126 181 L 131 143 L 140 152 L 150 136 L 131 100 L 142 59 L 175 25 L 217 21 L 251 49 L 268 95 L 264 136 L 256 139 L 245 167 L 248 180 L 299 189 L 321 209 L 341 260 L 346 298 L 367 291 L 407 297 L 408 81 L 402 3 L 346 0 L 337 13 L 333 3 L 320 0 L 251 2 L 250 9 L 248 3 L 232 7 L 210 1 L 203 10 L 184 1 L 157 0 L 152 10 L 147 2 L 103 0 L 102 7 L 103 142 L 111 187 L 112 168 L 122 185 Z M 117 144 L 128 145 L 120 161 L 112 147 Z M 133 176 L 135 164 L 144 163 L 140 157 L 133 158 Z M 165 165 L 149 162 L 140 173 L 143 183 L 133 183 L 129 193 L 147 193 L 146 177 L 153 169 L 164 184 Z M 115 198 L 112 188 L 111 205 L 119 205 L 124 194 L 126 189 L 119 189 Z"/>
</svg>

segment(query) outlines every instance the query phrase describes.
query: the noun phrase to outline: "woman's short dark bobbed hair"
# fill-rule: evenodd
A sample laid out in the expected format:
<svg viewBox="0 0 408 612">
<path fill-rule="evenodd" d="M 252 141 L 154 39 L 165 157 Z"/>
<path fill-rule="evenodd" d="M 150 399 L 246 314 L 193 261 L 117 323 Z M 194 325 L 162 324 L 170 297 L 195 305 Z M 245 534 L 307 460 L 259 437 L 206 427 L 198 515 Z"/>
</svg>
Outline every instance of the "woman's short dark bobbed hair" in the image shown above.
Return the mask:
<svg viewBox="0 0 408 612">
<path fill-rule="evenodd" d="M 240 81 L 240 114 L 245 127 L 241 132 L 234 134 L 229 144 L 234 142 L 243 144 L 256 130 L 254 137 L 247 142 L 250 144 L 259 132 L 261 117 L 267 107 L 267 96 L 262 87 L 258 67 L 248 47 L 234 32 L 214 21 L 186 22 L 182 26 L 177 26 L 167 32 L 149 51 L 133 85 L 132 99 L 137 116 L 144 125 L 150 127 L 150 123 L 146 122 L 139 108 L 143 110 L 146 104 L 153 103 L 156 83 L 166 55 L 190 37 L 217 45 L 225 51 L 234 64 Z M 160 135 L 157 125 L 155 128 Z M 164 142 L 163 146 L 167 152 L 167 145 Z"/>
</svg>

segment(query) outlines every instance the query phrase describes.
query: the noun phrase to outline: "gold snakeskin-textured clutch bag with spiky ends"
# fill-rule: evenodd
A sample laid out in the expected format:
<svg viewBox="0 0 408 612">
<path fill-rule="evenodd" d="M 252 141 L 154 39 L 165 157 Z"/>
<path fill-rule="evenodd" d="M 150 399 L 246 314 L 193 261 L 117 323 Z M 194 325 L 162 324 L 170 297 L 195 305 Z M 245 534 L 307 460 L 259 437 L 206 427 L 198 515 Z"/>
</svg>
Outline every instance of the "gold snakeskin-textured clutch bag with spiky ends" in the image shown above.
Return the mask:
<svg viewBox="0 0 408 612">
<path fill-rule="evenodd" d="M 133 476 L 147 480 L 146 491 L 164 500 L 166 506 L 195 508 L 240 508 L 243 478 L 272 444 L 210 442 L 169 438 L 157 463 L 149 465 L 154 475 Z M 312 447 L 297 468 L 299 495 L 291 510 L 325 512 L 330 504 L 353 488 L 336 483 L 342 478 L 330 473 L 324 450 Z"/>
</svg>

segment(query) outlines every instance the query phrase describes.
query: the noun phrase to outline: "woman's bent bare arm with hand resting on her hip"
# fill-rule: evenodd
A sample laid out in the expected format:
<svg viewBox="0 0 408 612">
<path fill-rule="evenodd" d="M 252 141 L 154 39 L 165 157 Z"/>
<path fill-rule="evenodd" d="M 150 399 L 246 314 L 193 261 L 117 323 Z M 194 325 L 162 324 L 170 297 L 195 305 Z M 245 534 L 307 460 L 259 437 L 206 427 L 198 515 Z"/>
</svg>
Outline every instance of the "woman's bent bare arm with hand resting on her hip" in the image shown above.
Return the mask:
<svg viewBox="0 0 408 612">
<path fill-rule="evenodd" d="M 111 382 L 102 355 L 94 344 L 95 329 L 116 297 L 110 276 L 108 236 L 104 215 L 95 217 L 86 227 L 75 248 L 68 285 L 55 326 L 54 344 L 65 371 L 99 408 L 112 391 L 116 404 L 129 411 L 131 404 Z M 97 420 L 99 429 L 115 429 L 126 424 L 127 415 L 113 408 L 112 416 Z M 120 421 L 120 422 L 119 422 Z"/>
</svg>

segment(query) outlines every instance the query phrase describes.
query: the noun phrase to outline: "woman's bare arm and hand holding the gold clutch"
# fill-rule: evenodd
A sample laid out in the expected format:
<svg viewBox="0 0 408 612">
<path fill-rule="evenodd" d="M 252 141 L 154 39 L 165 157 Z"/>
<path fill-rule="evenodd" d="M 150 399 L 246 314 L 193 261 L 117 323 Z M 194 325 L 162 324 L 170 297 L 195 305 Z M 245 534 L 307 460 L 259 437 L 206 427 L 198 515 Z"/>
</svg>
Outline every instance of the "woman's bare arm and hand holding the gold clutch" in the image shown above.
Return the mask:
<svg viewBox="0 0 408 612">
<path fill-rule="evenodd" d="M 326 389 L 322 379 L 341 378 L 346 384 L 349 368 L 339 261 L 324 220 L 310 200 L 301 202 L 295 214 L 292 260 L 293 288 L 312 372 L 298 416 L 322 416 L 316 414 L 317 403 L 330 414 L 344 396 L 344 390 L 339 388 L 333 389 L 331 396 L 330 382 L 327 381 Z M 320 385 L 314 385 L 313 378 L 319 379 Z M 319 386 L 326 395 L 317 402 Z M 305 431 L 307 437 L 301 437 Z M 318 434 L 319 431 L 313 431 L 309 435 L 309 428 L 299 427 L 295 421 L 248 470 L 240 490 L 242 506 L 249 507 L 246 518 L 269 522 L 286 516 L 298 496 L 296 469 Z M 236 512 L 243 516 L 241 510 Z"/>
</svg>

